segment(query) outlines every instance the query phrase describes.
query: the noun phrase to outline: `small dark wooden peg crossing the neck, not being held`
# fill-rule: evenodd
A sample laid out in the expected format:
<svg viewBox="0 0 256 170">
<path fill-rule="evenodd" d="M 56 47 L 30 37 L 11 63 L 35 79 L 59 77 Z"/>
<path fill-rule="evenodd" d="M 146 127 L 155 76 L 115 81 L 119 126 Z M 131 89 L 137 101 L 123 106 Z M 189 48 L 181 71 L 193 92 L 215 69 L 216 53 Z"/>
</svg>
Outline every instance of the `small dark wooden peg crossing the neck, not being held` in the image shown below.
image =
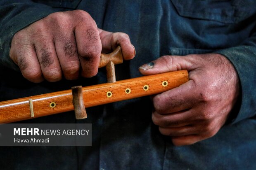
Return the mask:
<svg viewBox="0 0 256 170">
<path fill-rule="evenodd" d="M 73 105 L 75 108 L 76 119 L 87 118 L 84 102 L 83 102 L 83 88 L 82 86 L 71 87 L 73 96 Z"/>
</svg>

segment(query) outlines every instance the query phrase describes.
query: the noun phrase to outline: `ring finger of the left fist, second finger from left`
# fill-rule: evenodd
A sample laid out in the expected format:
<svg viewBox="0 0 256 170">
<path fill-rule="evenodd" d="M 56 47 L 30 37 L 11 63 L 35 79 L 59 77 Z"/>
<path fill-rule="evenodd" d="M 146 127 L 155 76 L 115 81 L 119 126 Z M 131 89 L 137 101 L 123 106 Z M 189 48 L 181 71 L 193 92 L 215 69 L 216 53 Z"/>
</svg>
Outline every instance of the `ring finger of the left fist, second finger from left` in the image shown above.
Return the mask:
<svg viewBox="0 0 256 170">
<path fill-rule="evenodd" d="M 43 36 L 50 37 L 50 36 Z M 43 77 L 49 82 L 57 82 L 62 79 L 62 71 L 55 51 L 55 46 L 50 39 L 41 38 L 34 42 L 36 54 Z"/>
</svg>

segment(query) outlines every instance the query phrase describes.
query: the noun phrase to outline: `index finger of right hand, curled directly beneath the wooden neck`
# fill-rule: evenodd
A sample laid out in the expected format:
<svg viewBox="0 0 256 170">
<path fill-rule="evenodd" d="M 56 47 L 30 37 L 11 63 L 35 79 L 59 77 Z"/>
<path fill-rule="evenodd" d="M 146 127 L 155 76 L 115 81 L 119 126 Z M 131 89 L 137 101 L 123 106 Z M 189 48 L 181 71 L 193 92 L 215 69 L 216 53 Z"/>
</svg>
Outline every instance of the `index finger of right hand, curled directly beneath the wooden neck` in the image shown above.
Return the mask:
<svg viewBox="0 0 256 170">
<path fill-rule="evenodd" d="M 201 95 L 194 81 L 190 80 L 179 87 L 154 96 L 153 105 L 159 114 L 170 114 L 192 108 L 200 98 Z"/>
</svg>

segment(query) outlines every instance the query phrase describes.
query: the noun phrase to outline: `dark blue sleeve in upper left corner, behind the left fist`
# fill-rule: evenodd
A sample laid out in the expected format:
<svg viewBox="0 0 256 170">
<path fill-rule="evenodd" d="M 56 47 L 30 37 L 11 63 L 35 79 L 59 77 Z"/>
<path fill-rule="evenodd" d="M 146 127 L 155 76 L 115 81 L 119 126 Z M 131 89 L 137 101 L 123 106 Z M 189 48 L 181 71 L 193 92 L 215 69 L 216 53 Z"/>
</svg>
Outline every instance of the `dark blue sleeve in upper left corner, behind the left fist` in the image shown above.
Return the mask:
<svg viewBox="0 0 256 170">
<path fill-rule="evenodd" d="M 12 37 L 19 30 L 53 12 L 57 12 L 56 9 L 31 0 L 0 0 L 0 67 L 19 70 L 9 58 Z"/>
</svg>

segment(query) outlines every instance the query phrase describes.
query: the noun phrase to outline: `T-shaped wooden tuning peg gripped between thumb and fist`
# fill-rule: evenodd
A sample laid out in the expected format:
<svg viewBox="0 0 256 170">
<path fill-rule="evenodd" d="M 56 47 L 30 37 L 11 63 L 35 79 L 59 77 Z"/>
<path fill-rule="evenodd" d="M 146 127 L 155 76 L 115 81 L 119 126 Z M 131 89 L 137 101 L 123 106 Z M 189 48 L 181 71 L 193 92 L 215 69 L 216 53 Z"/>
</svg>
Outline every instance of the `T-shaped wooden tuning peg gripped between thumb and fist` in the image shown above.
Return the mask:
<svg viewBox="0 0 256 170">
<path fill-rule="evenodd" d="M 118 46 L 112 53 L 101 54 L 99 68 L 105 67 L 107 70 L 107 81 L 116 82 L 115 64 L 123 63 L 123 54 L 121 47 Z"/>
</svg>

